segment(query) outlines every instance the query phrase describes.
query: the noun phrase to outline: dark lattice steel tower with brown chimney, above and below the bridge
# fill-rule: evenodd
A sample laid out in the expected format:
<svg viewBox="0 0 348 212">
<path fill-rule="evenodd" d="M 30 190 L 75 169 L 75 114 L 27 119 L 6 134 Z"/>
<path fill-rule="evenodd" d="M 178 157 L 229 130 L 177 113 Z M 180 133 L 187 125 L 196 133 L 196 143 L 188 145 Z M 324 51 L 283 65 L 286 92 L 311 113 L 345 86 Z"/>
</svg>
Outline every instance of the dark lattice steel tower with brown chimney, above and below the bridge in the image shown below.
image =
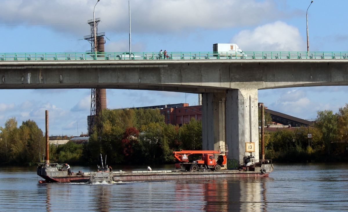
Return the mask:
<svg viewBox="0 0 348 212">
<path fill-rule="evenodd" d="M 91 54 L 96 54 L 95 59 L 98 57 L 103 57 L 104 54 L 104 43 L 105 43 L 105 32 L 98 33 L 98 23 L 100 18 L 88 20 L 90 25 L 90 35 L 84 36 L 85 40 L 91 43 Z M 94 27 L 95 24 L 95 27 Z M 94 29 L 95 29 L 95 41 L 94 41 Z M 96 48 L 95 48 L 96 43 Z M 97 52 L 95 52 L 95 49 Z M 88 135 L 90 136 L 94 132 L 94 127 L 98 133 L 103 131 L 102 122 L 102 110 L 106 109 L 106 89 L 92 88 L 91 92 L 91 102 L 90 102 L 90 116 L 88 116 Z"/>
</svg>

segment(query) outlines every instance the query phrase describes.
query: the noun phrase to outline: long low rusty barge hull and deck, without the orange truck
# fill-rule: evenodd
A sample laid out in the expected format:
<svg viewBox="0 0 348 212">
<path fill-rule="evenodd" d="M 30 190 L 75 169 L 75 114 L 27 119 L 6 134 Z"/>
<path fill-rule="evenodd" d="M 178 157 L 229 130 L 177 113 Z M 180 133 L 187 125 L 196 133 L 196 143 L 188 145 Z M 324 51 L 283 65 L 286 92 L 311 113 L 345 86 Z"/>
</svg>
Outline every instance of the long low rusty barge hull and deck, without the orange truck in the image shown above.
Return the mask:
<svg viewBox="0 0 348 212">
<path fill-rule="evenodd" d="M 90 182 L 90 181 L 153 181 L 153 180 L 176 180 L 176 179 L 215 179 L 215 178 L 245 178 L 245 177 L 268 177 L 274 166 L 270 161 L 255 163 L 237 170 L 161 170 L 161 171 L 108 171 L 104 168 L 97 172 L 81 172 L 68 175 L 66 169 L 57 163 L 39 164 L 37 174 L 44 180 L 39 183 L 49 182 Z M 58 167 L 57 167 L 58 166 Z"/>
</svg>

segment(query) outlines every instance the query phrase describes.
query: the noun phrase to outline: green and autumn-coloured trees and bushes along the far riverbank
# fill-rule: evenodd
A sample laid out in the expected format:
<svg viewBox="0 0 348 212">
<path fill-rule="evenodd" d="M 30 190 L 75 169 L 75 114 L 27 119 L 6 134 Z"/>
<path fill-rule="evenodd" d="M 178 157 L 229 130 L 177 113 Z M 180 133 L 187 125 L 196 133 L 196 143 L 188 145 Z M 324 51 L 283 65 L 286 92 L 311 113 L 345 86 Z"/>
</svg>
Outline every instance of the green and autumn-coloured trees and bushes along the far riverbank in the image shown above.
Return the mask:
<svg viewBox="0 0 348 212">
<path fill-rule="evenodd" d="M 164 115 L 152 109 L 106 109 L 102 117 L 103 132 L 95 131 L 87 144 L 50 145 L 50 162 L 98 164 L 102 154 L 108 164 L 174 163 L 173 151 L 202 148 L 201 121 L 165 124 Z M 271 121 L 267 114 L 265 119 Z M 314 127 L 266 133 L 265 157 L 277 162 L 348 161 L 348 104 L 336 114 L 318 111 L 317 120 Z M 0 131 L 0 164 L 44 161 L 45 138 L 34 121 L 18 128 L 11 118 Z"/>
</svg>

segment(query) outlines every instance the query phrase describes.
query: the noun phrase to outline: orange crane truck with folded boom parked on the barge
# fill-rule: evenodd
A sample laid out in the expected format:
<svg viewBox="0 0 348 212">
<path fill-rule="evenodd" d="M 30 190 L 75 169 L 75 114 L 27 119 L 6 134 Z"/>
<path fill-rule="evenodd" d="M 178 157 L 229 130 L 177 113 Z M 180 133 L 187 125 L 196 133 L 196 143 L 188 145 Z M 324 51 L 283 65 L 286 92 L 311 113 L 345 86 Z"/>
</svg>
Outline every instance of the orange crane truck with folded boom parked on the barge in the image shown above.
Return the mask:
<svg viewBox="0 0 348 212">
<path fill-rule="evenodd" d="M 174 157 L 180 161 L 176 163 L 177 169 L 185 169 L 186 171 L 198 171 L 210 169 L 212 171 L 220 171 L 221 167 L 226 168 L 227 158 L 226 153 L 228 152 L 227 145 L 221 146 L 219 151 L 215 150 L 180 150 L 179 152 L 173 152 Z M 190 162 L 188 156 L 192 154 L 201 154 L 200 160 Z M 215 160 L 214 154 L 219 155 Z"/>
</svg>

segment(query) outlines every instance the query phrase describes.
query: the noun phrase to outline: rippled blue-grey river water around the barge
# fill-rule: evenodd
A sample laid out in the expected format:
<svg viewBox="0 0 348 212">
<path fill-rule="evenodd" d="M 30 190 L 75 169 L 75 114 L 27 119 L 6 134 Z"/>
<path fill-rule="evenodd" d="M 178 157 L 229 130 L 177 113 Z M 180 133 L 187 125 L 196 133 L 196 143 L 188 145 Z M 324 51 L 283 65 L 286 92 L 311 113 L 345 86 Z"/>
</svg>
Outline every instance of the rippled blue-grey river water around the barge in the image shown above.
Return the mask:
<svg viewBox="0 0 348 212">
<path fill-rule="evenodd" d="M 0 166 L 0 211 L 348 211 L 347 163 L 275 164 L 266 178 L 94 185 L 38 180 L 35 166 Z"/>
</svg>

